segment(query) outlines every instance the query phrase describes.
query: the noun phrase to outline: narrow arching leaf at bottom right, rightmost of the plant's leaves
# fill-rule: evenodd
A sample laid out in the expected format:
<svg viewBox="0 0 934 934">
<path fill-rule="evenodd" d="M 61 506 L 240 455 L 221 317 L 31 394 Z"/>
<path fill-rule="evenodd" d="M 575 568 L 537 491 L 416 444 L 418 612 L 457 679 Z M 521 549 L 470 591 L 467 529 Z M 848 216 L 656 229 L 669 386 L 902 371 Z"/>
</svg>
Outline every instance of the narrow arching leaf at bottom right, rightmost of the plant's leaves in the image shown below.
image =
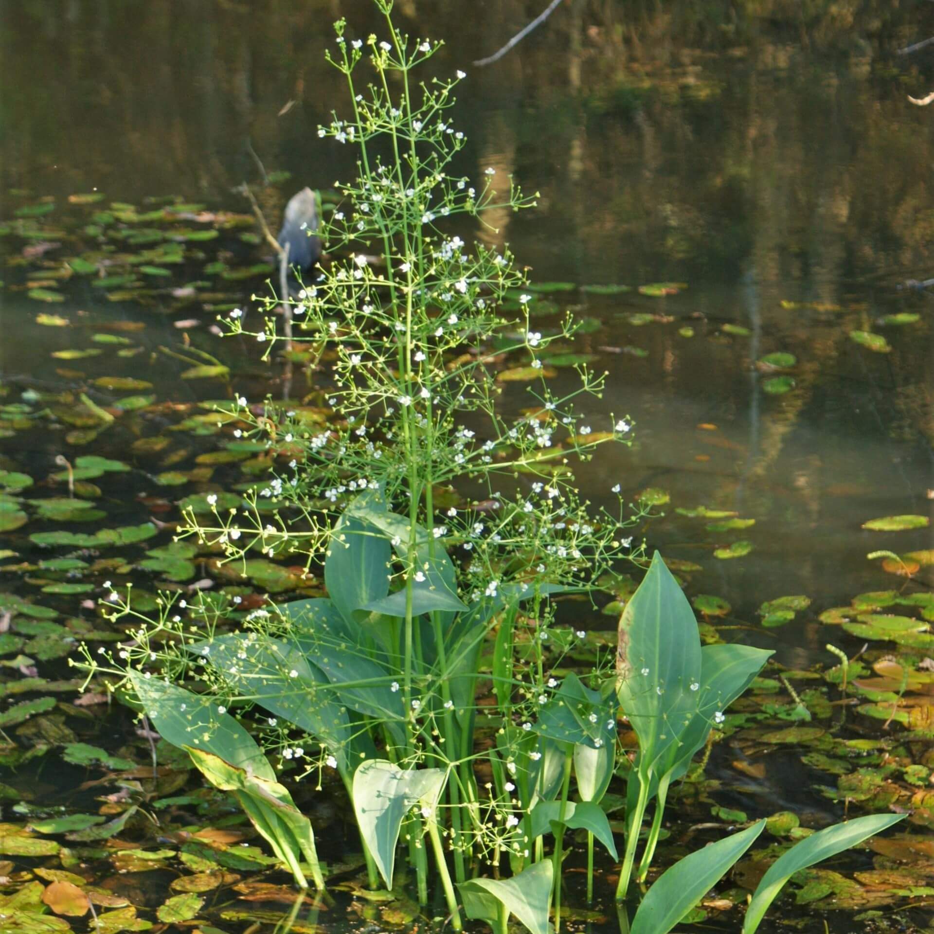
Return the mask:
<svg viewBox="0 0 934 934">
<path fill-rule="evenodd" d="M 856 820 L 847 821 L 845 824 L 835 824 L 833 827 L 818 830 L 812 836 L 796 843 L 771 864 L 759 882 L 746 909 L 743 934 L 754 934 L 772 901 L 796 872 L 856 846 L 881 830 L 898 824 L 905 817 L 906 814 L 870 814 L 867 817 L 857 817 Z"/>
</svg>

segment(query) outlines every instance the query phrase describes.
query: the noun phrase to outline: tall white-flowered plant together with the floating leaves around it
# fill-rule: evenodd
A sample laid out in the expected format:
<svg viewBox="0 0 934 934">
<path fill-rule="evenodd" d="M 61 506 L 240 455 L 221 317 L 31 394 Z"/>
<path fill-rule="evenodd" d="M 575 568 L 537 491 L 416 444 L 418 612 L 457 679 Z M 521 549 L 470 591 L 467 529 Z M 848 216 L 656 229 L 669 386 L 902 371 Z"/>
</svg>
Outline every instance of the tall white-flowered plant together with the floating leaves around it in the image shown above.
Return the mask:
<svg viewBox="0 0 934 934">
<path fill-rule="evenodd" d="M 581 488 L 575 468 L 625 459 L 638 432 L 625 411 L 583 414 L 603 355 L 648 355 L 583 344 L 603 329 L 588 303 L 626 296 L 626 339 L 752 333 L 686 326 L 668 304 L 686 283 L 536 283 L 508 249 L 449 233 L 535 196 L 492 168 L 456 171 L 464 76 L 432 77 L 438 44 L 375 7 L 380 35 L 336 23 L 347 101 L 319 131 L 357 148 L 360 176 L 322 192 L 331 262 L 287 302 L 244 301 L 273 278 L 229 249 L 257 245 L 247 213 L 95 191 L 68 215 L 39 199 L 0 220 L 35 245 L 4 288 L 65 335 L 52 357 L 72 381 L 0 384 L 0 438 L 41 428 L 56 445 L 43 474 L 0 460 L 0 934 L 301 934 L 347 906 L 399 930 L 751 934 L 776 899 L 868 929 L 926 904 L 934 551 L 914 536 L 928 517 L 855 530 L 892 589 L 822 608 L 763 581 L 747 621 L 698 592 L 701 564 L 653 556 L 666 510 L 715 564 L 766 540 L 756 517 L 665 488 Z M 42 248 L 55 239 L 64 259 Z M 133 318 L 65 313 L 85 290 L 204 308 L 253 359 L 193 320 L 154 343 Z M 883 335 L 856 328 L 861 309 L 810 310 L 845 318 L 843 343 L 870 357 L 921 326 L 892 315 Z M 233 388 L 255 379 L 256 348 L 294 398 Z M 807 369 L 774 346 L 749 365 L 763 405 L 793 400 Z M 146 377 L 168 366 L 216 398 L 163 400 Z M 601 614 L 616 626 L 594 627 Z M 743 641 L 801 620 L 824 665 Z M 759 783 L 756 814 L 717 757 Z M 835 819 L 770 807 L 765 763 L 789 757 Z M 60 768 L 80 807 L 31 792 Z M 684 815 L 694 826 L 675 834 Z M 157 902 L 120 884 L 151 872 Z"/>
</svg>

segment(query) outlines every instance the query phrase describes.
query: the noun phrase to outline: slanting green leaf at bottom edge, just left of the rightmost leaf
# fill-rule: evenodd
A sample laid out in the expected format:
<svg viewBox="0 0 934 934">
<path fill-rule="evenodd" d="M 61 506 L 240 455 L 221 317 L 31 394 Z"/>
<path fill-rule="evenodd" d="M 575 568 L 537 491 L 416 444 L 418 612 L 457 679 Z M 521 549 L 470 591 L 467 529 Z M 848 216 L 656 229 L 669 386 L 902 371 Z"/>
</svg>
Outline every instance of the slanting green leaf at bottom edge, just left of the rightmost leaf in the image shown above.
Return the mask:
<svg viewBox="0 0 934 934">
<path fill-rule="evenodd" d="M 749 849 L 765 827 L 760 820 L 695 850 L 663 872 L 639 906 L 630 934 L 668 934 Z"/>
</svg>

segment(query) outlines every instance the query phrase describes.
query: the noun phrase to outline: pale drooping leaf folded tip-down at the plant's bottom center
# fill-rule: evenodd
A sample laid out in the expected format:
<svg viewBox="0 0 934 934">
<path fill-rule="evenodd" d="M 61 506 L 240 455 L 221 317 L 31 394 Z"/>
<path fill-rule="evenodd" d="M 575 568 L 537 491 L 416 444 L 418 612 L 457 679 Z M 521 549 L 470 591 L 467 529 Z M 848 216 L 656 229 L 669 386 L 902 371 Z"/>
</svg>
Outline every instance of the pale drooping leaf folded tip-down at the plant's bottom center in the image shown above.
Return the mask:
<svg viewBox="0 0 934 934">
<path fill-rule="evenodd" d="M 444 769 L 403 770 L 385 759 L 364 762 L 354 772 L 353 808 L 367 849 L 392 888 L 396 843 L 403 819 L 416 805 L 434 810 L 445 786 Z"/>
</svg>

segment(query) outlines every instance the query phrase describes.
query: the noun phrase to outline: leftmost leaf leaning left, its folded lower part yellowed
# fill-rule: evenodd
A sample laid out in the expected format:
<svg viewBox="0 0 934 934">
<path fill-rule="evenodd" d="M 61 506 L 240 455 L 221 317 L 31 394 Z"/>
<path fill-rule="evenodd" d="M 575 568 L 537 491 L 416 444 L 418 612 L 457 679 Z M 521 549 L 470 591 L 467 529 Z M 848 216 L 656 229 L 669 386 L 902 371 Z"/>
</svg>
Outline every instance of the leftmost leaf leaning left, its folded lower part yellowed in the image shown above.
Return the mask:
<svg viewBox="0 0 934 934">
<path fill-rule="evenodd" d="M 217 704 L 183 687 L 140 672 L 130 672 L 130 681 L 163 739 L 186 750 L 209 782 L 234 792 L 295 881 L 307 884 L 299 865 L 304 856 L 315 884 L 323 888 L 311 824 L 276 782 L 276 772 L 247 730 Z"/>
</svg>

